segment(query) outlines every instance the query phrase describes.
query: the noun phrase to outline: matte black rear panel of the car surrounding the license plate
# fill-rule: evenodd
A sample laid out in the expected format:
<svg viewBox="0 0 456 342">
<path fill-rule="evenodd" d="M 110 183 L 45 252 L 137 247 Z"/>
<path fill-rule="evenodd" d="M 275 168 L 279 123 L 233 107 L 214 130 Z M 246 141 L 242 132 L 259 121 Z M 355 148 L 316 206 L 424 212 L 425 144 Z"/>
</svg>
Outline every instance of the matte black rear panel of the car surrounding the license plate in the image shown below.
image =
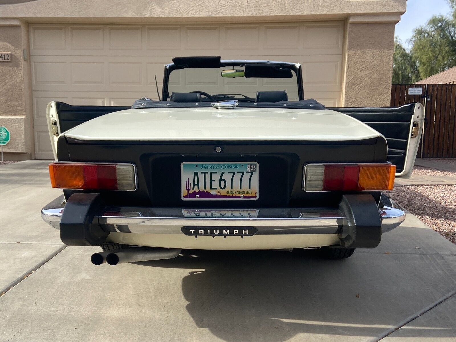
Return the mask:
<svg viewBox="0 0 456 342">
<path fill-rule="evenodd" d="M 221 146 L 222 153 L 214 148 Z M 84 142 L 60 137 L 59 161 L 134 163 L 138 189 L 102 191 L 107 205 L 175 208 L 337 207 L 342 193 L 305 192 L 307 163 L 384 163 L 386 142 Z M 210 201 L 181 199 L 181 163 L 257 162 L 259 199 Z M 68 197 L 73 190 L 65 190 Z M 90 191 L 85 191 L 90 192 Z M 380 193 L 373 193 L 379 200 Z"/>
</svg>

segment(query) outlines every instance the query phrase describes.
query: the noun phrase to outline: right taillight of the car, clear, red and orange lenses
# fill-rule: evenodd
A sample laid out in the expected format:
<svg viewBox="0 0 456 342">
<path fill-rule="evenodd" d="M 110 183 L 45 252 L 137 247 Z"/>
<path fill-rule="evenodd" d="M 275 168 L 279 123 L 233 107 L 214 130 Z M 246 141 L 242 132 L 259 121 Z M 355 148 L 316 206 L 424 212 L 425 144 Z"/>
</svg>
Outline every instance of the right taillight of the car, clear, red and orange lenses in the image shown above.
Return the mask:
<svg viewBox="0 0 456 342">
<path fill-rule="evenodd" d="M 385 164 L 308 164 L 306 191 L 392 190 L 396 166 Z"/>
</svg>

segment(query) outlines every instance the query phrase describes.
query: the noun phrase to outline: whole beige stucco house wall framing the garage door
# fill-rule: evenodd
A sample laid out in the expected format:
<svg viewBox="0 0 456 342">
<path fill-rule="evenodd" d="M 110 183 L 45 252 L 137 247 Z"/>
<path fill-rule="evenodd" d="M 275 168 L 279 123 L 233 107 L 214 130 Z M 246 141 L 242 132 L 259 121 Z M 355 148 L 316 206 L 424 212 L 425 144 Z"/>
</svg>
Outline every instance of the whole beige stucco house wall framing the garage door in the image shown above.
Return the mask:
<svg viewBox="0 0 456 342">
<path fill-rule="evenodd" d="M 8 0 L 4 0 L 3 3 Z M 28 23 L 284 22 L 345 20 L 343 106 L 389 105 L 394 24 L 406 0 L 36 0 L 0 5 L 0 124 L 10 159 L 34 158 Z M 6 82 L 5 82 L 6 80 Z"/>
</svg>

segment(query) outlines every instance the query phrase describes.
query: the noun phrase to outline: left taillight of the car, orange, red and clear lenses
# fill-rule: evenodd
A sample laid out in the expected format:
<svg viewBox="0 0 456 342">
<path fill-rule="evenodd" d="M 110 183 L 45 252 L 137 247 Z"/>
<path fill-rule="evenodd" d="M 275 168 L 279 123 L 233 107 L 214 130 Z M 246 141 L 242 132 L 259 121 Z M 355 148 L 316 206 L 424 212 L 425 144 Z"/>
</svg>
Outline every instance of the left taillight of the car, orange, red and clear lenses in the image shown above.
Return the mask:
<svg viewBox="0 0 456 342">
<path fill-rule="evenodd" d="M 136 189 L 133 164 L 61 163 L 49 164 L 53 188 L 60 189 Z"/>
</svg>

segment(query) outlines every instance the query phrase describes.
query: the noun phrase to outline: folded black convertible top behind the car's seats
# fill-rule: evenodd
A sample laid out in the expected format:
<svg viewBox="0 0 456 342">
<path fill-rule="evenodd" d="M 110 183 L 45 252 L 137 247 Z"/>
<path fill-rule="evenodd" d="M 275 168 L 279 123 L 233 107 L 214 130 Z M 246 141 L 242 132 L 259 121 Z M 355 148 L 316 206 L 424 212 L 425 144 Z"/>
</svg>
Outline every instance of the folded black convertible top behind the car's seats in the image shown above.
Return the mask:
<svg viewBox="0 0 456 342">
<path fill-rule="evenodd" d="M 223 101 L 220 101 L 223 102 Z M 197 108 L 211 107 L 211 102 L 174 102 L 174 101 L 155 101 L 155 100 L 136 100 L 131 106 L 132 109 L 138 108 Z M 294 108 L 294 109 L 326 109 L 324 105 L 314 99 L 301 101 L 280 101 L 269 102 L 239 102 L 237 108 Z"/>
</svg>

